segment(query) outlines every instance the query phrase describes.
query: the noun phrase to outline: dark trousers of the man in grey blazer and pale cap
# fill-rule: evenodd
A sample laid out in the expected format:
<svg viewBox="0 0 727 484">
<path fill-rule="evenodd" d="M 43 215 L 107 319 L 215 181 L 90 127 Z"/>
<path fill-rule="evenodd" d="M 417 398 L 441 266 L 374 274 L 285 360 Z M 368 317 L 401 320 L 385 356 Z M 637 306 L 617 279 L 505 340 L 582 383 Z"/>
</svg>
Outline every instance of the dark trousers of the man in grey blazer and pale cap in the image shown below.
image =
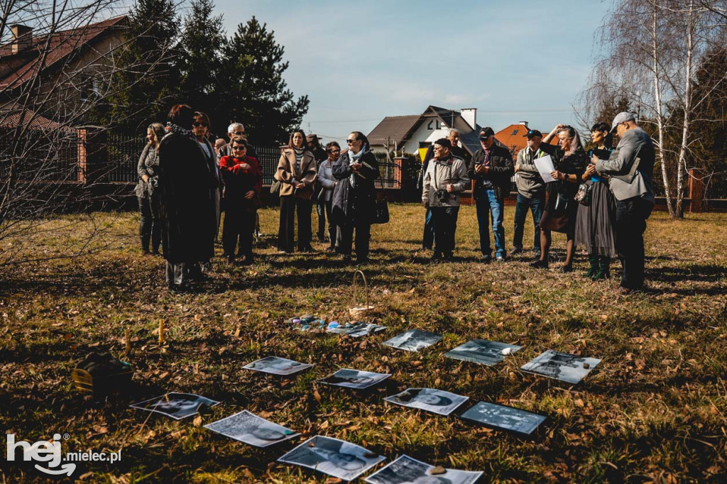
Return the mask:
<svg viewBox="0 0 727 484">
<path fill-rule="evenodd" d="M 624 268 L 621 276 L 624 288 L 641 289 L 643 286 L 643 233 L 653 208 L 652 203 L 640 197 L 616 201 L 616 251 Z"/>
</svg>

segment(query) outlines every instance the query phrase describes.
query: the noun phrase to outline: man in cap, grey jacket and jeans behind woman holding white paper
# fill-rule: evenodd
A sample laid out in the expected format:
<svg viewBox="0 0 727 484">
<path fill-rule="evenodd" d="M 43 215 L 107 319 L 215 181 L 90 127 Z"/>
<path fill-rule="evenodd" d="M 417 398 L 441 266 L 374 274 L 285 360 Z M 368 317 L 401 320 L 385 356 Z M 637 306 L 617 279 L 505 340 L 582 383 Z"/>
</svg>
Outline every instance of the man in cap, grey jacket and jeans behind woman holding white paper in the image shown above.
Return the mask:
<svg viewBox="0 0 727 484">
<path fill-rule="evenodd" d="M 515 204 L 515 235 L 513 236 L 513 251 L 510 254 L 519 254 L 523 251 L 525 217 L 530 209 L 535 227 L 533 251 L 535 258 L 540 259 L 540 219 L 545 208 L 545 182 L 540 177 L 534 160 L 552 155 L 553 148 L 547 143 L 542 144 L 543 135 L 537 129 L 531 129 L 525 136 L 528 137 L 528 146 L 520 150 L 518 161 L 515 164 L 518 202 Z"/>
</svg>

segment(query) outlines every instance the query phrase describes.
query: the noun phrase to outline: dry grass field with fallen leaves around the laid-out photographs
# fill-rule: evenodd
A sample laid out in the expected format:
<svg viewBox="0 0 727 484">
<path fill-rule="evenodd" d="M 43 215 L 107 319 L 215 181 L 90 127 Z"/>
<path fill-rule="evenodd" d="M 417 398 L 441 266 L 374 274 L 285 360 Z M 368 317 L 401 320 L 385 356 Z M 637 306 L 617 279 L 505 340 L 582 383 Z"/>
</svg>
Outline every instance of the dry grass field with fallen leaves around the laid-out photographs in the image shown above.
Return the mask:
<svg viewBox="0 0 727 484">
<path fill-rule="evenodd" d="M 0 275 L 2 429 L 28 442 L 67 433 L 64 452 L 121 448 L 118 463 L 79 465 L 72 478 L 89 483 L 324 483 L 326 475 L 276 463 L 318 434 L 364 445 L 387 462 L 406 453 L 482 470 L 484 482 L 726 482 L 727 214 L 672 221 L 655 213 L 646 233 L 649 290 L 622 297 L 617 278 L 581 277 L 582 254 L 576 273 L 558 272 L 562 236 L 555 236 L 549 271 L 528 267 L 529 251 L 483 265 L 475 252 L 474 208 L 463 207 L 459 259 L 429 264 L 419 249 L 421 206 L 391 205 L 390 211 L 392 222 L 374 227 L 371 263 L 358 267 L 375 304 L 368 320 L 388 328 L 364 339 L 282 324 L 304 313 L 350 319 L 355 267 L 322 251 L 277 254 L 276 209 L 260 212 L 257 265 L 230 266 L 217 257 L 212 281 L 190 294 L 170 294 L 163 259 L 140 254 L 137 214 L 63 217 L 50 223 L 57 230 L 4 241 L 3 249 L 17 257 L 49 260 L 7 265 Z M 505 212 L 508 249 L 513 211 Z M 83 244 L 92 230 L 93 254 L 53 259 Z M 531 234 L 529 227 L 526 246 Z M 618 262 L 613 272 L 620 274 Z M 162 348 L 156 344 L 160 320 Z M 130 355 L 124 355 L 125 328 Z M 409 328 L 435 331 L 443 340 L 418 353 L 381 344 Z M 444 358 L 475 338 L 523 349 L 494 367 Z M 603 361 L 575 386 L 520 371 L 547 349 Z M 76 392 L 73 364 L 100 350 L 132 363 L 131 391 L 103 401 Z M 294 380 L 242 369 L 268 355 L 315 366 Z M 364 393 L 316 384 L 346 367 L 392 377 Z M 542 432 L 523 439 L 383 400 L 409 386 L 515 406 L 548 420 Z M 179 422 L 128 407 L 167 391 L 222 404 Z M 302 437 L 257 449 L 202 427 L 243 409 Z M 43 476 L 17 462 L 0 468 L 1 483 Z"/>
</svg>

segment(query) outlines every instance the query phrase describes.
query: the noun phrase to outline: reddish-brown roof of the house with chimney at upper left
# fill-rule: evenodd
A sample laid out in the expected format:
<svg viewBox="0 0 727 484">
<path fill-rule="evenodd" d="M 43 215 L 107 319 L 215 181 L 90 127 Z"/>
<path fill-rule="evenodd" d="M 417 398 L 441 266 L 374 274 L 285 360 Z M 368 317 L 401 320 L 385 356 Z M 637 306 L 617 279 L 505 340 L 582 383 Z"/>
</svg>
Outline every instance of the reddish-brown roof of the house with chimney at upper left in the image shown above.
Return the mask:
<svg viewBox="0 0 727 484">
<path fill-rule="evenodd" d="M 85 25 L 84 27 L 73 28 L 68 31 L 59 31 L 52 34 L 49 43 L 49 52 L 42 68 L 47 70 L 54 67 L 68 57 L 68 55 L 71 55 L 79 48 L 89 44 L 92 40 L 102 36 L 109 29 L 124 25 L 126 19 L 126 15 L 121 15 L 120 17 L 113 17 L 108 20 Z M 12 44 L 1 46 L 0 62 L 3 60 L 12 62 L 12 60 L 19 57 L 27 58 L 27 61 L 9 72 L 3 78 L 0 78 L 0 86 L 15 87 L 33 78 L 33 72 L 37 68 L 37 58 L 47 39 L 47 35 L 33 37 L 31 47 L 23 49 L 23 51 L 17 52 L 17 54 L 12 54 Z"/>
</svg>

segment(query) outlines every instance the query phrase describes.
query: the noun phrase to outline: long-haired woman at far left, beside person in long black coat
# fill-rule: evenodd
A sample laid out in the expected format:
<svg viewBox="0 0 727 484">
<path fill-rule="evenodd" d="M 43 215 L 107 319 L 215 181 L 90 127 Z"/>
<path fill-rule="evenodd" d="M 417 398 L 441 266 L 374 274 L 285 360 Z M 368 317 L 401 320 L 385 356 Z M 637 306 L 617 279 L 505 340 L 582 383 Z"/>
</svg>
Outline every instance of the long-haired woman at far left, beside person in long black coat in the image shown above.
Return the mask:
<svg viewBox="0 0 727 484">
<path fill-rule="evenodd" d="M 164 137 L 164 124 L 152 123 L 146 129 L 148 143 L 144 147 L 137 164 L 139 182 L 134 192 L 139 202 L 141 222 L 139 225 L 139 237 L 141 239 L 141 251 L 143 254 L 159 254 L 161 244 L 161 228 L 159 225 L 159 192 L 158 166 L 159 159 L 157 149 L 159 141 Z M 151 241 L 151 252 L 149 251 Z"/>
</svg>

